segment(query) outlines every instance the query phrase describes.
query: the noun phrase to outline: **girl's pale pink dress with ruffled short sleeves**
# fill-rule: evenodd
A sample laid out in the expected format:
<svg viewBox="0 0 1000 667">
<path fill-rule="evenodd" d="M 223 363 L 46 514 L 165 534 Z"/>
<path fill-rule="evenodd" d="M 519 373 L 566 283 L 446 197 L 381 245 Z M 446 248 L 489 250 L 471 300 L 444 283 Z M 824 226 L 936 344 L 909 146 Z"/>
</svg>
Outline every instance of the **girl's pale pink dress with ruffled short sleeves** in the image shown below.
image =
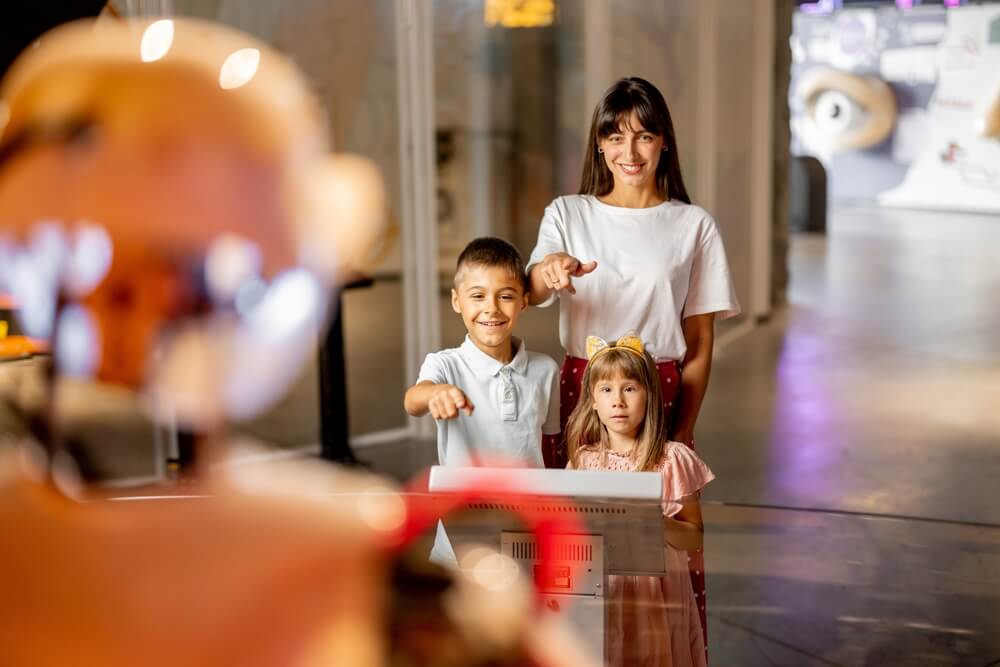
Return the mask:
<svg viewBox="0 0 1000 667">
<path fill-rule="evenodd" d="M 606 465 L 596 449 L 583 449 L 576 465 L 581 470 L 633 472 L 630 457 L 607 453 Z M 663 513 L 673 516 L 676 501 L 697 493 L 715 478 L 690 448 L 668 442 L 658 466 L 663 474 Z M 605 664 L 628 667 L 704 667 L 698 602 L 688 574 L 688 555 L 665 545 L 666 576 L 607 577 L 605 589 Z"/>
</svg>

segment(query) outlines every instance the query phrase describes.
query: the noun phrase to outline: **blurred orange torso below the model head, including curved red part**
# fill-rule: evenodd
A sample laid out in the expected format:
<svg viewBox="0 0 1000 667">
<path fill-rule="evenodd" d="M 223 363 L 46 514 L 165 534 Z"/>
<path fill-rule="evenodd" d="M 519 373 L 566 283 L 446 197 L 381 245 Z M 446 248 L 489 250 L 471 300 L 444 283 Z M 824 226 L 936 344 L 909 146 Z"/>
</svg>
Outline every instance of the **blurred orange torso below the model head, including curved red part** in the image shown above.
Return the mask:
<svg viewBox="0 0 1000 667">
<path fill-rule="evenodd" d="M 481 572 L 457 586 L 417 573 L 411 588 L 450 598 L 431 604 L 399 587 L 400 551 L 437 512 L 524 505 L 502 471 L 444 504 L 313 461 L 237 466 L 185 495 L 69 498 L 32 480 L 28 453 L 0 455 L 0 664 L 596 664 L 535 604 L 530 578 L 497 588 L 476 585 Z M 544 505 L 522 514 L 543 555 L 578 531 Z"/>
</svg>

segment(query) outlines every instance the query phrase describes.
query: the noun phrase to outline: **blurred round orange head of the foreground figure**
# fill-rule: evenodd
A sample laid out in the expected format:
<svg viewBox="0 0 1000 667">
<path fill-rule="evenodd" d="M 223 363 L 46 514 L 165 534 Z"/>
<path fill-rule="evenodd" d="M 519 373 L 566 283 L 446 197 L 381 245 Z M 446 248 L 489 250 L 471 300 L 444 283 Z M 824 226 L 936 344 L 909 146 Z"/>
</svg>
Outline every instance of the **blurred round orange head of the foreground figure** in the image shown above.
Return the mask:
<svg viewBox="0 0 1000 667">
<path fill-rule="evenodd" d="M 206 23 L 77 23 L 0 105 L 0 290 L 57 374 L 194 431 L 280 397 L 384 220 L 292 65 Z"/>
</svg>

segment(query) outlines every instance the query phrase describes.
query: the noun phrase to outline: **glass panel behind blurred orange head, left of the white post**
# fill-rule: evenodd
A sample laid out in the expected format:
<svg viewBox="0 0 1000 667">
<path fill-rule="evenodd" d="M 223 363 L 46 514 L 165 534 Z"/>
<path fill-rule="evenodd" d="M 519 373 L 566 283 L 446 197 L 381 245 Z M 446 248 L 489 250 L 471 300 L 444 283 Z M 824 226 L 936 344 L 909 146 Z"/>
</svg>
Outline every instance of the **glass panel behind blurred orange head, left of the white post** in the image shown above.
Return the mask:
<svg viewBox="0 0 1000 667">
<path fill-rule="evenodd" d="M 402 259 L 398 240 L 399 140 L 395 17 L 392 0 L 176 0 L 177 15 L 218 20 L 265 39 L 306 73 L 329 116 L 338 150 L 375 162 L 385 179 L 393 228 L 372 263 L 374 286 L 342 299 L 348 422 L 351 435 L 406 425 Z M 377 335 L 373 335 L 377 332 Z M 319 440 L 319 378 L 308 366 L 295 388 L 246 432 L 268 442 Z"/>
</svg>

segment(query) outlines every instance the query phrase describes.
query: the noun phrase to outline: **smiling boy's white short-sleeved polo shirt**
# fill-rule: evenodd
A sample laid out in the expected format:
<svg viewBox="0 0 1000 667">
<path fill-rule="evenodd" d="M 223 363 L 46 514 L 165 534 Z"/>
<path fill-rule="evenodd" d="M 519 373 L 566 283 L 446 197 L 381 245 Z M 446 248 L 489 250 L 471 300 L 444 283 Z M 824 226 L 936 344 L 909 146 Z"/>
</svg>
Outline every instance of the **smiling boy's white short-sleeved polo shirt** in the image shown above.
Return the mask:
<svg viewBox="0 0 1000 667">
<path fill-rule="evenodd" d="M 417 382 L 455 385 L 474 406 L 471 415 L 440 419 L 438 461 L 447 466 L 477 465 L 491 457 L 544 466 L 542 434 L 559 432 L 559 366 L 529 352 L 514 338 L 514 358 L 506 366 L 466 335 L 461 346 L 432 352 Z"/>
</svg>

